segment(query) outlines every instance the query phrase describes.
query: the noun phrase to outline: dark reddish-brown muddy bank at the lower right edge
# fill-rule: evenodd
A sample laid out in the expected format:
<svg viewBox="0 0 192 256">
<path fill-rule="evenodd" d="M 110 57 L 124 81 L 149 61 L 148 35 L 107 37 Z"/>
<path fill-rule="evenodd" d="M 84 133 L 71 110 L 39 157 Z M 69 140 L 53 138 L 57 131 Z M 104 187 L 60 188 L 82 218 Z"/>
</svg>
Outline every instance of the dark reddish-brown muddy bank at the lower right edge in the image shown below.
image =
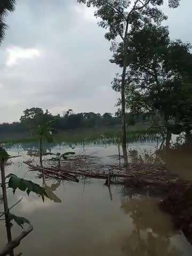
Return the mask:
<svg viewBox="0 0 192 256">
<path fill-rule="evenodd" d="M 182 230 L 192 244 L 192 183 L 172 187 L 160 207 L 172 215 L 175 228 Z"/>
</svg>

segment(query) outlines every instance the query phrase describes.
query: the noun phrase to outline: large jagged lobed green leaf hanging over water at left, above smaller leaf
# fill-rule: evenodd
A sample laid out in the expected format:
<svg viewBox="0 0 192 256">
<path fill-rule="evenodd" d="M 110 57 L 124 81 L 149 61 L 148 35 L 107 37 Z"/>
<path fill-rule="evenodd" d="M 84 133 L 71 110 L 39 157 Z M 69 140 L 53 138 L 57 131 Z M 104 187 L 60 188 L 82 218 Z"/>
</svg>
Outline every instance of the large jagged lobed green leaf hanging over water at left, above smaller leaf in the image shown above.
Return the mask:
<svg viewBox="0 0 192 256">
<path fill-rule="evenodd" d="M 21 191 L 27 190 L 26 192 L 28 195 L 30 194 L 30 192 L 34 192 L 35 194 L 40 195 L 43 199 L 43 202 L 44 202 L 44 196 L 49 198 L 44 188 L 42 188 L 41 186 L 39 186 L 38 184 L 30 180 L 21 179 L 12 173 L 9 174 L 7 178 L 10 178 L 8 187 L 13 189 L 13 194 L 15 193 L 15 190 L 18 188 Z"/>
</svg>

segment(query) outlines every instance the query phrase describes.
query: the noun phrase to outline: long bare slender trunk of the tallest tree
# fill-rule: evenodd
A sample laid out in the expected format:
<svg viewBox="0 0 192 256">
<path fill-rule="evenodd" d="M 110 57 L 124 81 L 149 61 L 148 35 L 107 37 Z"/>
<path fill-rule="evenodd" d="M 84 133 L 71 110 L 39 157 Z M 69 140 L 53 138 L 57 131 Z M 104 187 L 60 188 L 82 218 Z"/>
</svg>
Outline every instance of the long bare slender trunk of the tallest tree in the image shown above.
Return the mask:
<svg viewBox="0 0 192 256">
<path fill-rule="evenodd" d="M 122 149 L 124 164 L 127 165 L 127 149 L 126 149 L 126 114 L 125 114 L 125 77 L 126 77 L 126 65 L 127 65 L 127 33 L 128 33 L 129 21 L 126 22 L 125 37 L 124 37 L 124 60 L 123 60 L 123 73 L 121 83 L 121 98 L 122 98 Z"/>
</svg>

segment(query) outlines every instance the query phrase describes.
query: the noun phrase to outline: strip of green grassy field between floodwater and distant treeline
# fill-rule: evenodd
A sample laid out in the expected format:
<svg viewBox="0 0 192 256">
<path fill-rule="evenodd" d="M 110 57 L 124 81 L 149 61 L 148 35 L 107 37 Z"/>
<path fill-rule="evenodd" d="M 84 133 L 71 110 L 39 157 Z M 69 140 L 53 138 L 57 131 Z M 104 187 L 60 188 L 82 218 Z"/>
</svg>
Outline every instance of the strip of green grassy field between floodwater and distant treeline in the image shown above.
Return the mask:
<svg viewBox="0 0 192 256">
<path fill-rule="evenodd" d="M 132 129 L 131 129 L 132 128 Z M 127 142 L 145 142 L 156 140 L 159 136 L 157 130 L 149 130 L 142 126 L 138 126 L 135 129 L 135 126 L 130 126 L 127 129 Z M 144 128 L 144 129 L 143 129 Z M 58 134 L 53 135 L 53 139 L 55 143 L 63 142 L 67 144 L 89 144 L 94 143 L 95 145 L 100 144 L 118 144 L 121 143 L 122 131 L 121 127 L 106 127 L 105 129 L 84 129 L 84 130 L 71 130 L 60 132 Z M 27 142 L 37 142 L 38 136 L 29 137 L 25 135 L 22 137 L 18 136 L 10 136 L 10 138 L 0 139 L 0 143 L 27 143 Z"/>
</svg>

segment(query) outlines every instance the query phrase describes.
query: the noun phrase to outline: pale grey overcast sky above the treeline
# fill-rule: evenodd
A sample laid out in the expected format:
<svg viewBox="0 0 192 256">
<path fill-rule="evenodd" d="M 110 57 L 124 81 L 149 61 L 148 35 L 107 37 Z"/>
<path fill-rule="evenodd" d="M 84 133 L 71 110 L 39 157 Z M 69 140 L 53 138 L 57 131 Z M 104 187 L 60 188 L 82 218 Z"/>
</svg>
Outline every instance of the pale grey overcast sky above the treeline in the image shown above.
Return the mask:
<svg viewBox="0 0 192 256">
<path fill-rule="evenodd" d="M 191 0 L 181 0 L 178 9 L 164 7 L 172 39 L 192 42 L 191 10 Z M 30 107 L 53 114 L 69 108 L 115 113 L 118 94 L 111 81 L 118 69 L 108 61 L 110 45 L 92 9 L 76 0 L 18 0 L 7 23 L 0 47 L 0 122 L 18 121 Z"/>
</svg>

